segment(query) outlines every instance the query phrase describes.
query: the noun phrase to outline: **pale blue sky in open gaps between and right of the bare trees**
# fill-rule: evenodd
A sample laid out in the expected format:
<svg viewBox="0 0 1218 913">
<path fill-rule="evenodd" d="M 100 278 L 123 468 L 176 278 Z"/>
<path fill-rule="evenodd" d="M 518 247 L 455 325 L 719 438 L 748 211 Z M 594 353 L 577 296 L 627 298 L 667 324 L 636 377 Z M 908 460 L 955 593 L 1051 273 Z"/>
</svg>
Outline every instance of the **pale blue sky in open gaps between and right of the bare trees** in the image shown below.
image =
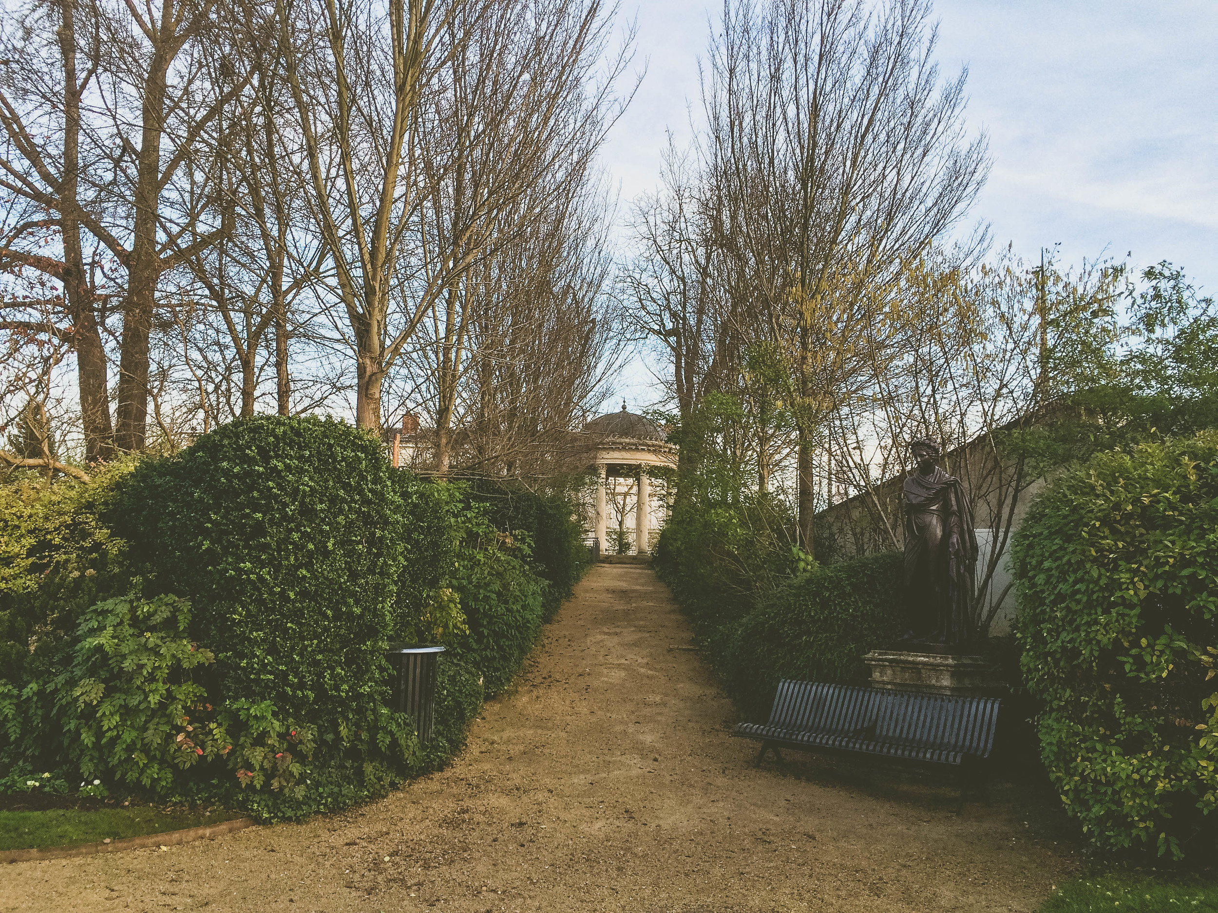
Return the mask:
<svg viewBox="0 0 1218 913">
<path fill-rule="evenodd" d="M 654 190 L 671 131 L 691 138 L 717 4 L 622 2 L 638 91 L 603 159 L 619 213 Z M 945 75 L 968 67 L 966 122 L 993 169 L 966 219 L 1027 259 L 1167 259 L 1218 296 L 1218 0 L 937 0 Z M 659 365 L 657 365 L 659 368 Z M 660 396 L 635 358 L 616 397 Z"/>
</svg>

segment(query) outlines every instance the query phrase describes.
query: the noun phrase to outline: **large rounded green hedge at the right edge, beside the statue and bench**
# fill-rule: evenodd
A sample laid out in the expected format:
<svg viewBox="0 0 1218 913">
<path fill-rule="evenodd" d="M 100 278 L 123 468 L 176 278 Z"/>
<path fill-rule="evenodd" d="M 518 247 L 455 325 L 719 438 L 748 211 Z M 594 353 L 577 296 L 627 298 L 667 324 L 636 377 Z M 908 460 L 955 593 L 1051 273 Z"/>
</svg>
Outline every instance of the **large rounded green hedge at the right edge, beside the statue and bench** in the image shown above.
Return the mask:
<svg viewBox="0 0 1218 913">
<path fill-rule="evenodd" d="M 1218 432 L 1099 454 L 1015 539 L 1041 756 L 1106 850 L 1213 852 Z"/>
</svg>

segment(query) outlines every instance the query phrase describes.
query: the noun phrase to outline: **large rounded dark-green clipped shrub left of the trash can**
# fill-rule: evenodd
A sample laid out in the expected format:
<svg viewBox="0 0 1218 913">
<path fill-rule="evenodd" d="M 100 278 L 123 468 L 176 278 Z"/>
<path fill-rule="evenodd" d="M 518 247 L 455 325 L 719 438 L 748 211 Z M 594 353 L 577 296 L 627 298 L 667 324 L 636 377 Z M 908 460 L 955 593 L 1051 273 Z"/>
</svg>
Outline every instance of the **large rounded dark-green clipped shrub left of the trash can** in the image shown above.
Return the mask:
<svg viewBox="0 0 1218 913">
<path fill-rule="evenodd" d="M 381 702 L 404 517 L 381 449 L 342 422 L 258 416 L 128 480 L 133 558 L 191 601 L 227 696 L 326 726 Z"/>
</svg>

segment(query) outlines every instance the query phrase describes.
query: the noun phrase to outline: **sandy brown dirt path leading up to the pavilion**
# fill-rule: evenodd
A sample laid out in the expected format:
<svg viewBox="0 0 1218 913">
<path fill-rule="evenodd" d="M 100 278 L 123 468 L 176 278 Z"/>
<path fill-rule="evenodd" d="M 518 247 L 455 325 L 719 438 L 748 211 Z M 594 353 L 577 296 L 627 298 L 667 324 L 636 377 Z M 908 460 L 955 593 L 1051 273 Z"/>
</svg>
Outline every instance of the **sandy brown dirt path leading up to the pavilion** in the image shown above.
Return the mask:
<svg viewBox="0 0 1218 913">
<path fill-rule="evenodd" d="M 1075 869 L 1012 786 L 956 817 L 933 779 L 755 769 L 689 643 L 650 568 L 599 565 L 448 769 L 301 825 L 5 866 L 0 909 L 1034 911 Z"/>
</svg>

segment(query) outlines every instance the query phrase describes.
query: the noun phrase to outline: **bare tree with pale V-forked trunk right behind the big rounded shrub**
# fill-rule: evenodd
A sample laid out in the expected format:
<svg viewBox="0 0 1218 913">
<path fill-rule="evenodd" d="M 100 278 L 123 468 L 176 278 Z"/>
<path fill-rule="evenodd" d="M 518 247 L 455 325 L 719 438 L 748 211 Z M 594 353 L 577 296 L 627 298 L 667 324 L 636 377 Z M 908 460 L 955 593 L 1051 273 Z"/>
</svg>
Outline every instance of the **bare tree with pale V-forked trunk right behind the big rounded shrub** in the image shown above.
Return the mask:
<svg viewBox="0 0 1218 913">
<path fill-rule="evenodd" d="M 449 28 L 482 9 L 464 0 L 390 0 L 384 15 L 362 0 L 275 6 L 312 215 L 356 357 L 359 427 L 380 427 L 386 373 L 453 271 L 407 299 L 406 289 L 417 292 L 403 279 L 417 265 L 424 100 L 457 50 L 445 44 Z"/>
</svg>

